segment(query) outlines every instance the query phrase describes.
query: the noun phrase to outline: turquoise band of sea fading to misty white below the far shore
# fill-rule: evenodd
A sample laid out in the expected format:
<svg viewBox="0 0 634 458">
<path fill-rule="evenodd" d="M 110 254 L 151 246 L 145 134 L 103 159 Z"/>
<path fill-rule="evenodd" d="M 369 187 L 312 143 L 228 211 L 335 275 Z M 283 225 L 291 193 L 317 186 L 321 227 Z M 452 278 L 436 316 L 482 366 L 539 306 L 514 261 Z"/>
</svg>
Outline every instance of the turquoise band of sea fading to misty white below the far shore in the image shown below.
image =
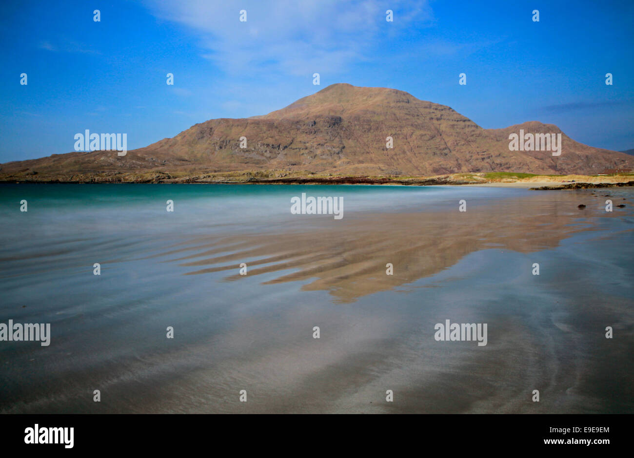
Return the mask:
<svg viewBox="0 0 634 458">
<path fill-rule="evenodd" d="M 108 230 L 117 224 L 126 229 L 139 229 L 147 234 L 165 232 L 153 226 L 169 226 L 178 231 L 209 230 L 227 227 L 238 229 L 279 227 L 297 220 L 290 213 L 293 196 L 340 196 L 344 198 L 344 215 L 370 210 L 398 212 L 458 207 L 458 200 L 467 196 L 465 188 L 455 186 L 358 186 L 358 185 L 248 185 L 248 184 L 0 184 L 0 218 L 10 227 L 20 220 L 12 218 L 20 201 L 29 203 L 28 226 L 55 221 L 81 224 L 87 231 Z M 489 198 L 499 198 L 490 188 L 470 188 L 470 205 L 479 205 Z M 507 190 L 507 196 L 525 194 L 525 190 Z M 174 201 L 174 212 L 166 211 L 167 200 Z M 26 216 L 26 215 L 25 215 Z M 173 217 L 166 220 L 162 217 Z M 54 218 L 54 220 L 53 220 Z M 331 219 L 325 216 L 313 220 Z M 49 229 L 51 229 L 49 227 Z"/>
</svg>

